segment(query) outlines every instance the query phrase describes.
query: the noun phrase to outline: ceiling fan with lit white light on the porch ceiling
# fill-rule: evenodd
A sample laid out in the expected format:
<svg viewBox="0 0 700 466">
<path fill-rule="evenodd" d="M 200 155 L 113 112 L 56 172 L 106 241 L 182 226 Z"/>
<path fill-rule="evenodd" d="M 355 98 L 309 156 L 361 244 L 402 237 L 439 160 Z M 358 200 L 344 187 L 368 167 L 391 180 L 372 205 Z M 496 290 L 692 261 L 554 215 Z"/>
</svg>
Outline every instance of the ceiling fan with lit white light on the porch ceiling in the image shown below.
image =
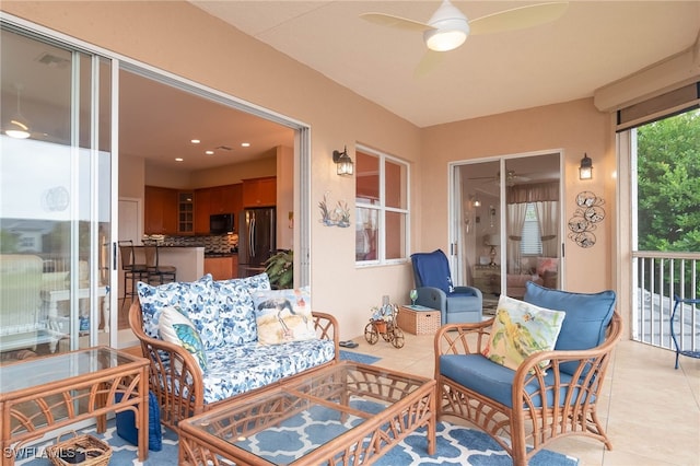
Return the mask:
<svg viewBox="0 0 700 466">
<path fill-rule="evenodd" d="M 568 4 L 567 1 L 538 3 L 468 20 L 450 0 L 443 0 L 427 23 L 376 12 L 362 13 L 360 18 L 384 26 L 422 32 L 429 50 L 448 51 L 464 44 L 469 34 L 522 30 L 555 21 L 564 13 Z"/>
</svg>

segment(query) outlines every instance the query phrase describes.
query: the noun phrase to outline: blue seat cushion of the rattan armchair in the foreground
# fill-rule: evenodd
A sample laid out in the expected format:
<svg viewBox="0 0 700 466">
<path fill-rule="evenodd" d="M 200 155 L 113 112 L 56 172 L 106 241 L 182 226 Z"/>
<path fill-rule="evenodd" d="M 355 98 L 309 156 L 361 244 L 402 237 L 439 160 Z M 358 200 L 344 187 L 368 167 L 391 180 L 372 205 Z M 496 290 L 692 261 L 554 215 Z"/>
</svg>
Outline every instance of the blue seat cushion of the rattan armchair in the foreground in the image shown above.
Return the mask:
<svg viewBox="0 0 700 466">
<path fill-rule="evenodd" d="M 513 377 L 515 371 L 497 364 L 481 354 L 443 354 L 440 357 L 440 373 L 451 378 L 459 385 L 479 393 L 488 398 L 494 399 L 500 404 L 513 407 Z M 545 385 L 553 385 L 555 375 L 552 371 L 547 373 Z M 572 377 L 569 374 L 560 374 L 560 384 L 567 385 Z M 562 386 L 559 392 L 559 399 L 563 400 L 567 396 L 568 386 Z M 575 400 L 580 388 L 573 388 L 572 400 Z M 539 391 L 537 380 L 533 380 L 525 385 L 525 392 L 533 394 Z M 542 407 L 542 400 L 539 395 L 533 398 L 536 408 Z M 553 393 L 547 393 L 547 406 L 553 405 Z"/>
</svg>

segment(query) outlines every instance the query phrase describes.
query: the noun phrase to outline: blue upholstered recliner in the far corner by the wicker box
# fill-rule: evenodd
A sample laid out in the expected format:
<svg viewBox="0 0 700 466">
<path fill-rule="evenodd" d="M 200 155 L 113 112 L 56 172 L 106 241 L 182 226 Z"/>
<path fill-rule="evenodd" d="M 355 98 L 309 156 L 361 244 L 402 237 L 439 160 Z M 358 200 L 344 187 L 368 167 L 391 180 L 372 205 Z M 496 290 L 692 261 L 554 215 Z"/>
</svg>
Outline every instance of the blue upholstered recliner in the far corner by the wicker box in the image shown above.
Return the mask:
<svg viewBox="0 0 700 466">
<path fill-rule="evenodd" d="M 481 291 L 474 287 L 455 287 L 447 256 L 441 249 L 411 255 L 417 304 L 440 310 L 441 324 L 481 322 Z"/>
</svg>

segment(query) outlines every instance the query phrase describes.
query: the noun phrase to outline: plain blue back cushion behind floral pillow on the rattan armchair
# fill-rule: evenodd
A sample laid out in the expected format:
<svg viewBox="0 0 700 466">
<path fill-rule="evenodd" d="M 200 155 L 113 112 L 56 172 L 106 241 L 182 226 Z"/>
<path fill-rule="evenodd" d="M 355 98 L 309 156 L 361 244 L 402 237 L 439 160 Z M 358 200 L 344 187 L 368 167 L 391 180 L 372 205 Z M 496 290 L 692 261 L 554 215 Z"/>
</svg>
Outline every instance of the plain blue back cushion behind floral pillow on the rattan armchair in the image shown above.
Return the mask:
<svg viewBox="0 0 700 466">
<path fill-rule="evenodd" d="M 557 339 L 557 350 L 591 349 L 605 340 L 605 331 L 615 312 L 615 291 L 573 293 L 551 290 L 528 281 L 523 301 L 550 310 L 564 311 L 567 316 Z M 567 363 L 562 371 L 573 373 L 578 363 Z"/>
</svg>

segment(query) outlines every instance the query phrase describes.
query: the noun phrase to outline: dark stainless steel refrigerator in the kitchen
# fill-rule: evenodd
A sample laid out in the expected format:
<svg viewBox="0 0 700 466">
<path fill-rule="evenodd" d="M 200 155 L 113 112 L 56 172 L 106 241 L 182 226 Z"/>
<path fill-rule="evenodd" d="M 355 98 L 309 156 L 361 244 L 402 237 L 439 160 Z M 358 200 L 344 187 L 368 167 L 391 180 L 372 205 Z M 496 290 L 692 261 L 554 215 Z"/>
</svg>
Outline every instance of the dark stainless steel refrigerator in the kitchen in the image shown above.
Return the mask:
<svg viewBox="0 0 700 466">
<path fill-rule="evenodd" d="M 238 217 L 238 278 L 265 271 L 265 261 L 277 249 L 273 207 L 244 209 Z"/>
</svg>

